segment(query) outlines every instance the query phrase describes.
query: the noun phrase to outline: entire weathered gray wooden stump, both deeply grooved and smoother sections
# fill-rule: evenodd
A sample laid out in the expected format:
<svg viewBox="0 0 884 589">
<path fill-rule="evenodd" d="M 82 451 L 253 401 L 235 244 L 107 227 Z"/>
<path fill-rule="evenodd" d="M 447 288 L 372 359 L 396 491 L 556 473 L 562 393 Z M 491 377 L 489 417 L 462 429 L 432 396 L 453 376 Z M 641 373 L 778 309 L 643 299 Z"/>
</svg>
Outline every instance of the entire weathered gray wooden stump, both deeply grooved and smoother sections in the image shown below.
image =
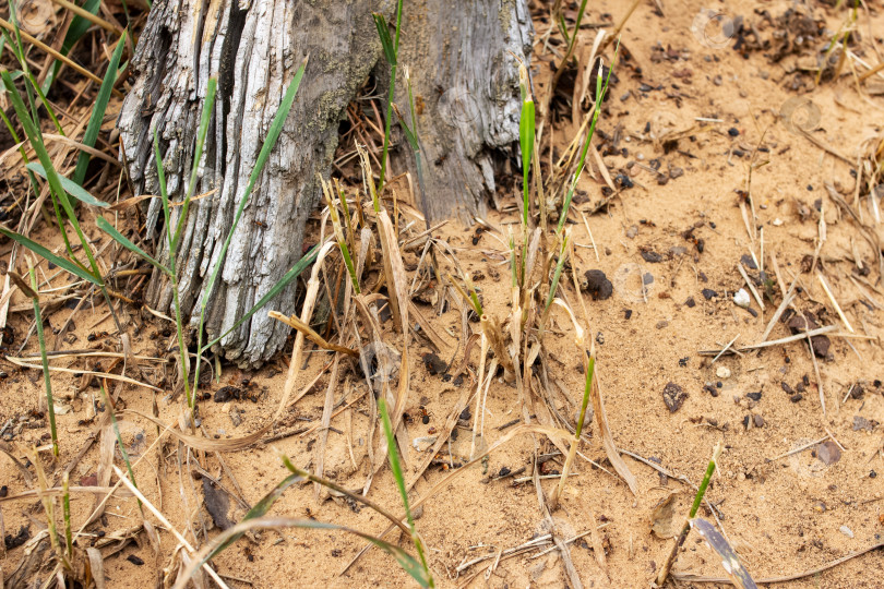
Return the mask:
<svg viewBox="0 0 884 589">
<path fill-rule="evenodd" d="M 518 137 L 513 51 L 530 50 L 525 0 L 407 0 L 399 63 L 425 101 L 419 117 L 431 217 L 481 211 L 493 190 L 491 151 Z M 134 86 L 120 115 L 135 190 L 158 193 L 153 133 L 168 188 L 180 197 L 191 168 L 210 76 L 218 100 L 198 192 L 217 192 L 191 207 L 176 260 L 180 300 L 195 324 L 199 297 L 232 225 L 270 121 L 304 56 L 310 61 L 277 147 L 255 187 L 207 306 L 210 337 L 242 316 L 301 256 L 307 217 L 319 202 L 316 173 L 327 178 L 347 104 L 378 64 L 371 12 L 393 15 L 392 0 L 157 0 L 133 58 Z M 385 64 L 378 71 L 386 70 Z M 397 84 L 397 89 L 399 85 Z M 441 93 L 438 92 L 441 89 Z M 404 94 L 397 101 L 405 105 Z M 407 110 L 407 109 L 406 109 Z M 443 157 L 444 156 L 444 157 Z M 395 168 L 414 167 L 410 156 Z M 441 161 L 437 165 L 437 161 Z M 158 254 L 159 203 L 148 208 Z M 175 219 L 174 219 L 175 220 Z M 169 283 L 155 274 L 147 304 L 171 306 Z M 295 286 L 271 309 L 295 311 Z M 267 360 L 288 328 L 256 313 L 220 350 L 240 365 Z"/>
</svg>

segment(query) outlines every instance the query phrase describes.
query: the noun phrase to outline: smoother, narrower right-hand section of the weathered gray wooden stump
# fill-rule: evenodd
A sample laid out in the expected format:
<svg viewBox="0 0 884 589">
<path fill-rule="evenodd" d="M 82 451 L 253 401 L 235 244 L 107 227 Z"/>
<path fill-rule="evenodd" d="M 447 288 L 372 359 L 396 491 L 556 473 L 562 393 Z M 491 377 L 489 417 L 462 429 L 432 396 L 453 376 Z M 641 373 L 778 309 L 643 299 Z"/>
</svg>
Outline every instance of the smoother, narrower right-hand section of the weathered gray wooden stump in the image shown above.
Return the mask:
<svg viewBox="0 0 884 589">
<path fill-rule="evenodd" d="M 473 224 L 475 214 L 485 214 L 495 190 L 495 152 L 518 143 L 522 100 L 513 56 L 527 63 L 531 38 L 526 0 L 406 2 L 399 63 L 423 103 L 422 208 L 431 219 L 455 216 Z M 404 112 L 405 92 L 397 85 Z M 407 147 L 404 140 L 399 144 Z M 410 156 L 401 161 L 414 170 Z"/>
</svg>

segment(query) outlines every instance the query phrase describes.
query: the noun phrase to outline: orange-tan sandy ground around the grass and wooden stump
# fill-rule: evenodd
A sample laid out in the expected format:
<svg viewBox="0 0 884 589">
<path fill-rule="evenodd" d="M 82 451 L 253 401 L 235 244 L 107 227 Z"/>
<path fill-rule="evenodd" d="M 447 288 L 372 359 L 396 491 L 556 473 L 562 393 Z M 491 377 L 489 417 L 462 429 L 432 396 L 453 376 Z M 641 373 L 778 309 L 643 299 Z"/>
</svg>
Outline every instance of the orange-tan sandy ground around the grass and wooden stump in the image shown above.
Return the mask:
<svg viewBox="0 0 884 589">
<path fill-rule="evenodd" d="M 564 538 L 597 528 L 606 553 L 604 567 L 594 554 L 590 536 L 580 538 L 571 546 L 571 557 L 584 586 L 626 588 L 650 584 L 671 545 L 671 540 L 652 533 L 652 513 L 671 493 L 676 494 L 677 512 L 688 512 L 694 491 L 682 481 L 700 482 L 713 447 L 719 443 L 724 447 L 719 470 L 706 494 L 715 513 L 704 505 L 700 516 L 709 520 L 718 518 L 720 530 L 754 578 L 813 570 L 882 542 L 884 430 L 880 423 L 884 422 L 884 396 L 880 380 L 884 380 L 884 354 L 879 338 L 884 328 L 881 311 L 884 285 L 877 252 L 863 238 L 860 224 L 835 202 L 826 184 L 834 187 L 853 211 L 861 211 L 865 231 L 884 238 L 869 199 L 857 203 L 853 196 L 856 161 L 860 156 L 868 157 L 870 152 L 864 142 L 873 137 L 880 142 L 884 135 L 884 98 L 870 89 L 875 83 L 880 87 L 884 79 L 871 81 L 859 94 L 848 65 L 848 74 L 837 81 L 824 79 L 815 86 L 813 73 L 799 68 L 812 56 L 811 48 L 825 46 L 847 12 L 820 2 L 809 3 L 810 10 L 801 9 L 805 11 L 802 14 L 811 14 L 820 23 L 822 34 L 810 39 L 804 37 L 805 45 L 800 47 L 796 45 L 793 32 L 786 41 L 775 36 L 783 31 L 775 25 L 777 19 L 792 7 L 792 2 L 779 0 L 714 3 L 665 0 L 660 3 L 662 13 L 656 2 L 645 1 L 623 29 L 617 82 L 602 112 L 596 145 L 616 188 L 620 189 L 624 180 L 633 187 L 618 190 L 608 200 L 601 190 L 605 180 L 597 166 L 593 170 L 595 178 L 584 178 L 581 184 L 584 194 L 577 208 L 586 213 L 592 237 L 582 219 L 574 216 L 578 221 L 572 226 L 577 242 L 574 264 L 580 275 L 588 269 L 600 269 L 613 283 L 613 296 L 606 300 L 583 294 L 592 322 L 590 333 L 597 341 L 597 374 L 613 438 L 618 447 L 656 462 L 670 477 L 625 456 L 638 482 L 638 492 L 633 494 L 611 473 L 597 428 L 590 428 L 590 443 L 584 444 L 581 450 L 585 458 L 605 470 L 578 458 L 576 473 L 560 509 L 554 513 L 557 530 Z M 610 29 L 610 23 L 623 16 L 628 2 L 590 4 L 587 21 L 604 23 Z M 742 33 L 727 27 L 725 31 L 731 33 L 730 38 L 727 34 L 722 37 L 720 32 L 714 31 L 714 23 L 702 33 L 703 27 L 698 29 L 696 23 L 700 19 L 702 24 L 702 10 L 706 4 L 715 4 L 714 9 L 727 19 L 741 15 L 745 28 L 753 25 L 758 38 L 769 41 L 768 46 L 761 47 L 758 38 L 752 35 L 743 38 Z M 876 0 L 867 4 L 868 10 L 859 11 L 860 41 L 852 48 L 867 63 L 875 64 L 881 57 L 873 52 L 872 44 L 881 47 L 884 43 L 881 39 L 884 7 Z M 765 15 L 769 15 L 769 20 Z M 535 25 L 537 44 L 533 68 L 536 91 L 541 95 L 543 83 L 549 80 L 550 64 L 558 63 L 558 58 L 550 48 L 545 48 L 543 35 L 549 24 L 539 13 Z M 785 29 L 788 31 L 788 26 Z M 590 44 L 595 28 L 586 28 L 582 35 L 578 56 L 585 56 L 584 46 Z M 789 43 L 792 45 L 783 49 L 784 44 Z M 552 48 L 561 51 L 561 46 Z M 790 53 L 792 48 L 796 52 Z M 774 61 L 779 52 L 787 55 Z M 585 65 L 581 62 L 580 68 Z M 573 79 L 563 80 L 562 91 L 571 94 Z M 553 155 L 559 157 L 573 136 L 574 125 L 570 121 L 570 105 L 557 99 L 554 107 L 559 121 L 553 131 Z M 834 154 L 844 154 L 846 160 Z M 549 154 L 545 153 L 542 158 L 548 160 Z M 762 163 L 763 166 L 758 165 Z M 750 219 L 746 224 L 739 193 L 746 189 L 750 168 L 758 229 L 757 235 L 752 236 L 749 232 L 752 211 L 746 205 Z M 507 199 L 505 202 L 512 202 Z M 607 200 L 607 206 L 596 211 L 602 200 Z M 809 262 L 817 247 L 821 217 L 826 240 L 811 273 Z M 501 239 L 505 240 L 505 227 L 517 223 L 517 216 L 513 211 L 493 212 L 486 220 L 491 229 L 481 233 L 476 243 L 475 227 L 447 225 L 435 233 L 447 241 L 465 271 L 474 275 L 487 313 L 503 318 L 509 313 L 509 269 Z M 8 244 L 0 244 L 0 254 L 8 255 Z M 406 254 L 406 266 L 414 267 L 419 252 Z M 811 259 L 805 260 L 807 256 Z M 819 365 L 814 366 L 807 340 L 724 356 L 714 363 L 713 358 L 701 356 L 701 350 L 720 349 L 734 338 L 736 346 L 762 340 L 783 298 L 773 271 L 773 257 L 778 262 L 786 288 L 796 280 L 798 309 L 812 312 L 821 326 L 836 326 L 835 332 L 828 334 L 831 347 L 820 350 L 823 353 L 817 358 Z M 761 309 L 752 300 L 754 313 L 732 301 L 734 291 L 745 288 L 738 271 L 741 263 L 750 277 L 757 277 L 763 269 L 773 280 L 773 302 L 765 299 Z M 847 333 L 848 328 L 825 293 L 819 273 L 831 286 L 846 322 L 855 332 L 852 337 L 835 335 Z M 763 287 L 760 289 L 764 291 Z M 568 292 L 573 293 L 573 288 L 569 286 Z M 12 304 L 25 302 L 16 297 Z M 421 309 L 431 315 L 429 306 Z M 70 309 L 51 312 L 49 325 L 60 326 L 71 312 Z M 133 350 L 144 356 L 166 357 L 174 339 L 169 324 L 131 309 L 127 313 Z M 28 313 L 12 315 L 11 324 L 17 337 L 24 336 L 31 317 Z M 446 329 L 459 338 L 462 322 L 456 304 L 433 322 L 437 329 Z M 104 345 L 100 336 L 101 330 L 110 329 L 112 324 L 103 308 L 91 310 L 86 305 L 75 315 L 72 333 L 76 341 L 64 346 L 111 349 L 109 344 Z M 91 334 L 98 335 L 91 338 Z M 789 335 L 789 327 L 777 322 L 768 339 Z M 557 407 L 570 419 L 583 390 L 583 374 L 572 336 L 566 317 L 554 315 L 552 333 L 547 336 L 548 376 Z M 11 352 L 17 347 L 16 341 Z M 24 352 L 36 349 L 32 338 Z M 419 357 L 432 350 L 417 341 L 411 351 Z M 474 352 L 474 360 L 476 357 Z M 297 389 L 311 383 L 330 359 L 325 352 L 308 354 Z M 463 347 L 454 364 L 459 364 L 462 359 Z M 447 362 L 450 358 L 444 360 Z M 107 368 L 110 360 L 99 362 Z M 84 364 L 92 366 L 94 360 L 76 358 L 56 362 L 56 365 L 79 369 Z M 152 361 L 141 364 L 140 370 L 152 382 L 158 382 L 164 370 L 174 370 L 171 365 Z M 464 387 L 470 383 L 467 376 L 458 386 L 453 378 L 431 374 L 419 361 L 414 364 L 406 407 L 410 418 L 407 430 L 413 440 L 430 436 L 441 428 Z M 287 358 L 248 374 L 225 366 L 220 383 L 212 383 L 204 390 L 214 395 L 223 386 L 242 387 L 242 378 L 249 378 L 248 388 L 254 401 L 203 401 L 201 417 L 206 434 L 241 436 L 265 424 L 282 397 L 286 366 Z M 4 432 L 14 433 L 4 438 L 11 437 L 17 447 L 46 444 L 45 419 L 32 413 L 41 394 L 39 371 L 22 371 L 7 361 L 0 362 L 0 370 L 7 374 L 0 382 L 4 392 L 0 400 L 0 422 L 12 420 Z M 354 375 L 344 382 L 345 385 L 333 392 L 335 400 L 345 395 L 353 399 L 362 392 L 356 386 Z M 664 389 L 669 383 L 686 394 L 676 411 L 670 411 L 664 400 Z M 80 384 L 79 377 L 65 374 L 58 374 L 53 381 L 59 404 L 69 408 L 58 418 L 62 438 L 58 465 L 62 467 L 74 458 L 93 432 L 93 408 L 104 402 L 97 388 L 88 382 L 83 387 Z M 276 431 L 318 423 L 327 386 L 326 372 L 310 393 L 287 411 L 286 426 Z M 164 400 L 165 393 L 155 395 L 136 386 L 117 389 L 116 385 L 114 392 L 121 394 L 118 411 L 132 409 L 150 413 L 154 401 L 160 419 L 168 421 L 179 411 L 177 402 L 169 405 Z M 421 407 L 428 412 L 428 423 L 423 423 Z M 325 474 L 348 489 L 361 490 L 368 474 L 367 414 L 365 398 L 357 400 L 349 410 L 332 420 L 328 432 Z M 507 429 L 500 428 L 518 417 L 515 388 L 495 378 L 488 393 L 480 446 L 501 438 Z M 299 466 L 313 467 L 315 444 L 321 443 L 316 431 L 290 435 L 225 454 L 223 468 L 215 455 L 190 455 L 183 446 L 170 442 L 160 445 L 160 453 L 148 452 L 150 444 L 156 440 L 156 428 L 134 413 L 121 413 L 121 419 L 122 437 L 132 458 L 145 457 L 135 468 L 140 489 L 154 504 L 162 506 L 178 530 L 190 527 L 199 530 L 200 536 L 203 527 L 210 529 L 210 536 L 217 530 L 212 530 L 213 516 L 203 506 L 206 479 L 200 478 L 198 458 L 207 476 L 219 479 L 222 486 L 234 495 L 238 494 L 237 485 L 240 486 L 242 500 L 253 505 L 287 473 L 277 453 L 288 455 Z M 463 461 L 469 454 L 469 430 L 456 431 L 458 436 L 451 445 L 451 454 L 444 452 L 441 456 L 444 460 Z M 821 443 L 823 438 L 827 442 Z M 95 444 L 71 472 L 72 484 L 95 484 L 99 462 L 97 446 Z M 546 554 L 533 550 L 503 557 L 489 568 L 500 551 L 548 531 L 538 509 L 534 484 L 518 482 L 530 474 L 535 449 L 540 454 L 556 452 L 540 436 L 517 437 L 494 452 L 487 462 L 465 471 L 419 509 L 417 528 L 430 549 L 429 562 L 439 586 L 561 587 L 568 584 L 562 558 L 554 550 Z M 798 452 L 786 456 L 790 450 Z M 23 459 L 23 455 L 17 456 Z M 409 447 L 405 458 L 406 478 L 410 478 L 411 468 L 422 455 Z M 119 456 L 117 464 L 122 464 Z M 523 467 L 524 473 L 490 480 L 506 472 L 503 469 L 517 471 Z M 60 480 L 61 467 L 53 470 L 52 465 L 44 460 L 44 468 L 50 472 L 50 479 Z M 29 469 L 34 472 L 33 466 Z M 543 465 L 541 471 L 553 473 L 560 469 L 561 457 L 558 457 Z M 181 471 L 183 474 L 179 473 Z M 445 473 L 439 466 L 431 467 L 416 484 L 413 502 Z M 8 459 L 0 464 L 0 482 L 9 495 L 27 489 L 22 474 Z M 549 494 L 556 483 L 556 480 L 543 480 L 541 485 Z M 369 496 L 394 512 L 401 508 L 386 468 L 373 481 Z M 36 498 L 3 501 L 0 505 L 7 534 L 15 534 L 25 526 L 33 536 L 45 525 Z M 74 495 L 71 505 L 74 524 L 84 520 L 93 501 L 87 494 Z M 141 521 L 138 509 L 133 500 L 111 500 L 104 519 L 88 531 L 111 534 L 114 530 L 136 527 Z M 244 508 L 230 500 L 229 512 L 230 519 L 237 520 Z M 377 513 L 343 498 L 318 503 L 312 485 L 290 488 L 271 513 L 332 521 L 371 533 L 386 527 Z M 141 534 L 136 542 L 107 557 L 108 587 L 153 586 L 158 569 L 168 564 L 177 544 L 171 533 L 162 531 L 159 537 L 158 553 Z M 98 540 L 97 536 L 95 539 Z M 192 536 L 189 540 L 194 541 Z M 403 546 L 409 548 L 407 539 L 399 540 Z M 215 564 L 219 573 L 243 579 L 230 581 L 231 587 L 410 584 L 395 562 L 378 550 L 370 551 L 346 574 L 338 576 L 362 545 L 361 540 L 342 532 L 268 531 L 258 541 L 240 540 L 217 557 Z M 138 558 L 127 560 L 132 555 Z M 462 563 L 489 555 L 489 560 L 458 573 Z M 22 556 L 21 548 L 7 551 L 2 560 L 4 574 L 8 575 Z M 136 564 L 139 558 L 143 564 Z M 718 561 L 692 533 L 674 570 L 720 577 L 724 570 Z M 45 572 L 40 578 L 46 578 Z M 882 579 L 884 558 L 879 550 L 790 581 L 785 587 L 882 587 Z"/>
</svg>

